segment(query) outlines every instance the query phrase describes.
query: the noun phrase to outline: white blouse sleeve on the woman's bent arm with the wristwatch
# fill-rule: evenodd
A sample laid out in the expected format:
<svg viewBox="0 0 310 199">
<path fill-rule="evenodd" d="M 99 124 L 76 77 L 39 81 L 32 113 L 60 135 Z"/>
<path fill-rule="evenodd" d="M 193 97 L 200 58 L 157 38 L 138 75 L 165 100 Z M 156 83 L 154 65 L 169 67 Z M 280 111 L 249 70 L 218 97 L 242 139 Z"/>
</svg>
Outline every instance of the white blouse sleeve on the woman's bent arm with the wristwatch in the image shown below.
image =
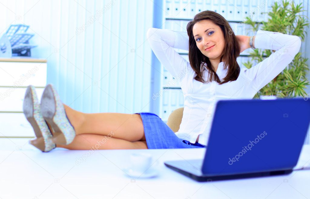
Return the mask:
<svg viewBox="0 0 310 199">
<path fill-rule="evenodd" d="M 245 71 L 246 77 L 251 80 L 251 87 L 255 89 L 253 92 L 257 93 L 292 62 L 299 52 L 301 40 L 293 35 L 259 30 L 254 42 L 255 48 L 276 50 L 268 58 Z"/>
</svg>

